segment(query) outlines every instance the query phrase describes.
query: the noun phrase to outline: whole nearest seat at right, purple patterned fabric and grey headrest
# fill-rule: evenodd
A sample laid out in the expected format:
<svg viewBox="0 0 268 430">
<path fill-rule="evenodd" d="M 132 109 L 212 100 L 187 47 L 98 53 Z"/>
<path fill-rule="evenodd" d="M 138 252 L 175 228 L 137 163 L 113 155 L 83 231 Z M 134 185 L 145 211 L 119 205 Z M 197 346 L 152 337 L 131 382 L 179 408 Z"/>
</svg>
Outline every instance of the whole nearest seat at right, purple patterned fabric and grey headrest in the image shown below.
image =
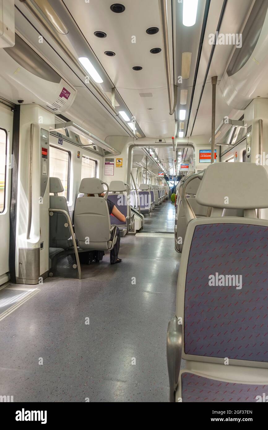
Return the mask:
<svg viewBox="0 0 268 430">
<path fill-rule="evenodd" d="M 194 178 L 210 218 L 196 218 L 186 198 Z M 170 401 L 256 402 L 268 390 L 268 220 L 256 217 L 268 207 L 268 174 L 253 163 L 215 163 L 181 194 L 187 231 L 167 332 Z M 244 216 L 216 216 L 226 206 Z"/>
</svg>

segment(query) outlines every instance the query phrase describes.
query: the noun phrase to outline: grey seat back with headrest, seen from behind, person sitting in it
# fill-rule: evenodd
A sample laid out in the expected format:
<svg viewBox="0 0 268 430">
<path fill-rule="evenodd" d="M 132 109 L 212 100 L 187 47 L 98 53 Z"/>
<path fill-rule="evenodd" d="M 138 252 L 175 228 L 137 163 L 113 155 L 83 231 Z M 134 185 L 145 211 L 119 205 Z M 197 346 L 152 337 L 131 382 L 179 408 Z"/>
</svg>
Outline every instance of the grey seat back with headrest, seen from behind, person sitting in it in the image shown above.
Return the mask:
<svg viewBox="0 0 268 430">
<path fill-rule="evenodd" d="M 105 192 L 104 197 L 99 194 Z M 74 228 L 81 249 L 111 251 L 117 241 L 116 225 L 110 222 L 107 205 L 109 187 L 98 178 L 84 178 L 80 193 L 93 194 L 94 197 L 78 197 L 74 209 Z"/>
</svg>

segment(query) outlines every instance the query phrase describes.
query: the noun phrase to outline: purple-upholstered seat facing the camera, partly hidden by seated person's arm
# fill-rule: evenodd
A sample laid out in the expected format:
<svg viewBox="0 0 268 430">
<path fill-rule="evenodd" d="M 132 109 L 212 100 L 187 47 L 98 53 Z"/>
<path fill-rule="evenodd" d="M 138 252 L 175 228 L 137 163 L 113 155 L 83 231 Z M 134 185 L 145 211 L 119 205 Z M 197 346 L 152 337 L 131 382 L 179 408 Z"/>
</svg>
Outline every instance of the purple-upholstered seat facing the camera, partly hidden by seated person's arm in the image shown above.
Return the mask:
<svg viewBox="0 0 268 430">
<path fill-rule="evenodd" d="M 119 221 L 114 215 L 110 215 L 111 224 L 116 224 L 120 230 L 120 236 L 125 236 L 132 229 L 134 214 L 130 208 L 130 188 L 123 181 L 111 181 L 109 185 L 108 199 L 111 200 L 117 209 L 126 217 L 126 222 Z"/>
</svg>

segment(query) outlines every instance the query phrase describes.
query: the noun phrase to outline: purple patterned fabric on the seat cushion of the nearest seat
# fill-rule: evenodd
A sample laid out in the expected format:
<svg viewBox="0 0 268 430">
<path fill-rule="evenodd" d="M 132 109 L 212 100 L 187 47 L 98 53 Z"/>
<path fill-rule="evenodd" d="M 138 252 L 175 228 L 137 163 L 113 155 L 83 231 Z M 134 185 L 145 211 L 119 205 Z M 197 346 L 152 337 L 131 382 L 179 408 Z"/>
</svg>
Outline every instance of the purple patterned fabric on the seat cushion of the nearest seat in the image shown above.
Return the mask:
<svg viewBox="0 0 268 430">
<path fill-rule="evenodd" d="M 237 384 L 182 373 L 182 402 L 257 402 L 263 393 L 268 393 L 268 385 Z"/>
</svg>

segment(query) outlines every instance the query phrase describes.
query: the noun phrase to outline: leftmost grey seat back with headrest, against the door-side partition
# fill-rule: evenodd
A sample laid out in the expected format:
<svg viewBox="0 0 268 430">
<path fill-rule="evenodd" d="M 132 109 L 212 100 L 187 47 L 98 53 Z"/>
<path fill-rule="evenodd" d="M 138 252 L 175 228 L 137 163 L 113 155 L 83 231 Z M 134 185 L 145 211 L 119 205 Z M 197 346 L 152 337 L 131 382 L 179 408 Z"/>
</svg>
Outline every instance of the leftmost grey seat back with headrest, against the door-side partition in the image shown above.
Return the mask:
<svg viewBox="0 0 268 430">
<path fill-rule="evenodd" d="M 69 215 L 69 209 L 67 201 L 64 196 L 59 196 L 58 193 L 62 193 L 64 188 L 59 178 L 49 178 L 49 193 L 54 193 L 53 196 L 49 196 L 49 208 L 50 209 L 62 209 Z M 71 233 L 66 226 L 67 220 L 65 215 L 62 213 L 54 212 L 53 216 L 49 217 L 49 247 L 50 248 L 69 248 L 72 246 L 70 240 Z"/>
</svg>

